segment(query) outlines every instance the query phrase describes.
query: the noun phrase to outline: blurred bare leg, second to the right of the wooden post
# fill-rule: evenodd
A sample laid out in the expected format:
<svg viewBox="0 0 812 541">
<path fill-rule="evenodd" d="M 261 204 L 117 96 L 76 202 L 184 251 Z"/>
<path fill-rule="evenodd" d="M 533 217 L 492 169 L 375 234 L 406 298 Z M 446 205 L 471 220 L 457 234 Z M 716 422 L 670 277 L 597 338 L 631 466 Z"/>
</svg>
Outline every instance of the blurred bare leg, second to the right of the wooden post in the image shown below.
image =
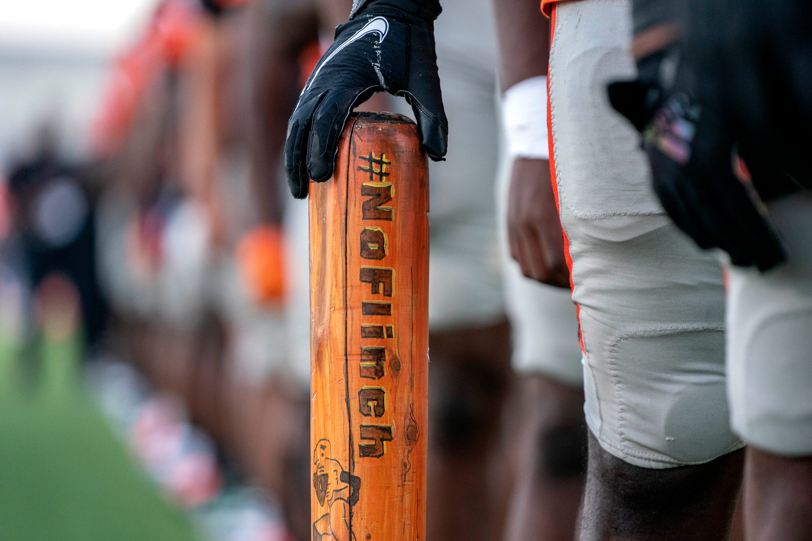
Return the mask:
<svg viewBox="0 0 812 541">
<path fill-rule="evenodd" d="M 584 393 L 545 376 L 521 376 L 520 436 L 507 541 L 570 541 L 586 465 Z"/>
</svg>

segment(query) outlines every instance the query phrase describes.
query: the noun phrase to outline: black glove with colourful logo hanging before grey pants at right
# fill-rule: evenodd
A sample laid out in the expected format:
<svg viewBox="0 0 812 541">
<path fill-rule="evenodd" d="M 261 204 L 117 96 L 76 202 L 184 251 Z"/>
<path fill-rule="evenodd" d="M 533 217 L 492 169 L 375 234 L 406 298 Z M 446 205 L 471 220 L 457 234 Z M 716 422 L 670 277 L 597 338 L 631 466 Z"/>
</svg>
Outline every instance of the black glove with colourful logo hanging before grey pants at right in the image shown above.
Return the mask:
<svg viewBox="0 0 812 541">
<path fill-rule="evenodd" d="M 784 249 L 752 185 L 733 174 L 736 145 L 719 93 L 707 84 L 711 78 L 700 85 L 695 72 L 677 71 L 679 57 L 673 45 L 642 58 L 637 80 L 609 85 L 611 105 L 643 133 L 654 191 L 676 225 L 699 247 L 727 251 L 733 264 L 772 268 L 784 260 Z M 710 98 L 703 106 L 675 89 L 698 86 Z"/>
</svg>

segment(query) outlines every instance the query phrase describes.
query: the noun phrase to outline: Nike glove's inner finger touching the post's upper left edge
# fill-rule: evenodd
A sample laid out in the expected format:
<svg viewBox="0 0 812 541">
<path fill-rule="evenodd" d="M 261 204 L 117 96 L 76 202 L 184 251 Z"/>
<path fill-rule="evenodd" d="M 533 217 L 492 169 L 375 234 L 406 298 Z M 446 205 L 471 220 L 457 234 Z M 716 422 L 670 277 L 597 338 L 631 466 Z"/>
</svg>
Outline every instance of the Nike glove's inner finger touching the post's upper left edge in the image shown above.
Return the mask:
<svg viewBox="0 0 812 541">
<path fill-rule="evenodd" d="M 313 115 L 307 155 L 307 170 L 315 182 L 324 182 L 333 175 L 339 137 L 352 107 L 362 95 L 372 94 L 377 88 L 348 88 L 330 93 L 319 105 Z"/>
</svg>

